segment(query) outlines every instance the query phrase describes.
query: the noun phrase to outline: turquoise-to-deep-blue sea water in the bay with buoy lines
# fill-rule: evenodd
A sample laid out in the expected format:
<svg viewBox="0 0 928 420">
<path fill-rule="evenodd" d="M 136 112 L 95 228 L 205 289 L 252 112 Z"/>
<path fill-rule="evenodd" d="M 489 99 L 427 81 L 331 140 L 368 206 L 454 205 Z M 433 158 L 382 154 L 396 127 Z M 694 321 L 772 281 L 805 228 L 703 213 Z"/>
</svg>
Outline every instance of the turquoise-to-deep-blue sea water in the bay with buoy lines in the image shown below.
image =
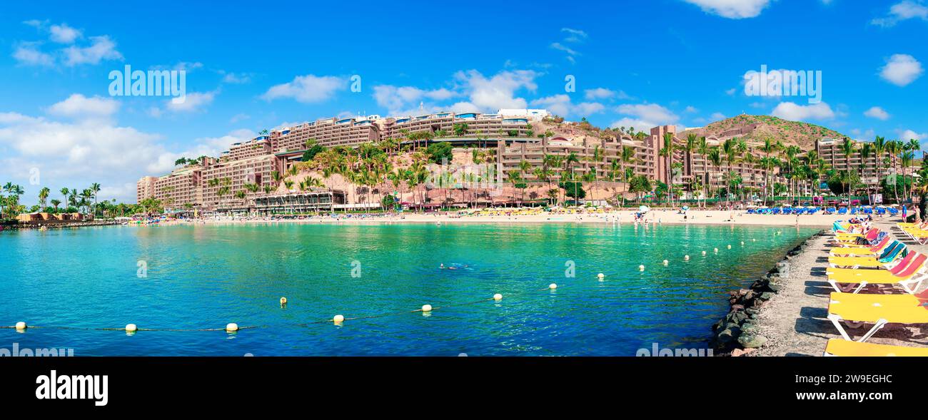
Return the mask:
<svg viewBox="0 0 928 420">
<path fill-rule="evenodd" d="M 0 325 L 74 328 L 0 329 L 0 348 L 228 356 L 634 355 L 651 343 L 705 348 L 710 325 L 727 310 L 726 292 L 764 274 L 814 232 L 572 223 L 3 232 Z M 145 277 L 137 275 L 139 261 L 147 264 Z M 442 263 L 458 269 L 440 270 Z M 567 276 L 570 265 L 575 277 Z M 602 282 L 599 273 L 606 274 Z M 550 283 L 559 285 L 556 291 Z M 495 293 L 504 299 L 492 300 Z M 289 299 L 283 309 L 282 296 Z M 409 312 L 426 303 L 437 309 L 427 316 Z M 325 322 L 335 314 L 384 316 Z M 134 336 L 92 329 L 231 322 L 260 328 Z"/>
</svg>

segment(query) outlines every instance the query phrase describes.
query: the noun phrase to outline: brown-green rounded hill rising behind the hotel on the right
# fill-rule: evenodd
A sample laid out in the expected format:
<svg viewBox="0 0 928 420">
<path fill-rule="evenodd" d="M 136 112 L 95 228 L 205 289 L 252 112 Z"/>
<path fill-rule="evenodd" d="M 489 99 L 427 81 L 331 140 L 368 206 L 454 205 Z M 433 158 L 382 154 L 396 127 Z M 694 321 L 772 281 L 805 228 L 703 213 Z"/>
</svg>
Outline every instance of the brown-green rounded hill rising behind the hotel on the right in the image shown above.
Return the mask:
<svg viewBox="0 0 928 420">
<path fill-rule="evenodd" d="M 847 135 L 838 133 L 829 128 L 801 121 L 787 121 L 769 115 L 739 115 L 722 121 L 715 121 L 705 127 L 689 129 L 677 137 L 686 137 L 695 133 L 699 136 L 717 137 L 727 140 L 731 137 L 740 137 L 748 143 L 763 143 L 769 138 L 780 141 L 786 146 L 799 146 L 804 150 L 815 148 L 816 140 L 822 137 L 842 139 Z"/>
</svg>

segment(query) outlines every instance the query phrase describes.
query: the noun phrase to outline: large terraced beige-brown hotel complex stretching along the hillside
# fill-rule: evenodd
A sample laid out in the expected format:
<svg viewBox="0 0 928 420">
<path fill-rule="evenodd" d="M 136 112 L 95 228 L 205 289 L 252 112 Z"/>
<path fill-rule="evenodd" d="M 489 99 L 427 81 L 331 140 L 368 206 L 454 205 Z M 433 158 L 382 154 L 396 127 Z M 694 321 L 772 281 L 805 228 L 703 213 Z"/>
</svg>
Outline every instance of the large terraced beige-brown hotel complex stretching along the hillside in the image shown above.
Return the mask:
<svg viewBox="0 0 928 420">
<path fill-rule="evenodd" d="M 274 172 L 284 173 L 290 166 L 300 161 L 306 142 L 316 140 L 320 146 L 357 146 L 364 143 L 378 142 L 386 138 L 404 138 L 408 134 L 428 132 L 442 134 L 438 141 L 458 145 L 476 145 L 496 147 L 496 181 L 502 182 L 510 171 L 522 172 L 520 162 L 528 161 L 532 169 L 544 165 L 545 155 L 567 157 L 575 154 L 578 162 L 555 169 L 556 172 L 570 170 L 575 175 L 596 171 L 599 179 L 608 179 L 614 169 L 630 168 L 635 175 L 645 175 L 664 184 L 680 185 L 687 189 L 690 182 L 700 179 L 702 185 L 709 189 L 723 188 L 727 185 L 728 172 L 737 172 L 742 185 L 761 190 L 765 186 L 765 173 L 756 163 L 741 160 L 729 165 L 726 159 L 715 167 L 699 153 L 687 153 L 685 139 L 677 134 L 673 125 L 658 126 L 651 129 L 651 134 L 643 138 L 628 134 L 605 132 L 599 136 L 582 130 L 568 128 L 573 137 L 538 136 L 544 127 L 533 125 L 548 116 L 544 109 L 501 109 L 496 114 L 436 112 L 419 116 L 390 117 L 380 116 L 356 118 L 328 118 L 313 122 L 274 130 L 247 142 L 236 143 L 223 152 L 217 159 L 202 159 L 194 165 L 187 166 L 161 177 L 146 176 L 137 183 L 136 197 L 139 201 L 146 197 L 161 200 L 167 210 L 203 211 L 240 211 L 240 210 L 279 210 L 288 206 L 301 209 L 325 207 L 327 205 L 345 205 L 345 195 L 332 192 L 331 195 L 310 194 L 290 198 L 277 193 Z M 465 133 L 455 133 L 458 124 L 466 124 Z M 752 127 L 740 127 L 729 130 L 720 137 L 707 138 L 710 146 L 721 146 L 726 138 L 740 136 L 750 132 Z M 535 132 L 537 130 L 537 133 Z M 677 146 L 673 162 L 681 162 L 682 170 L 672 172 L 668 180 L 667 168 L 670 158 L 661 156 L 664 147 L 664 134 L 674 136 Z M 846 166 L 844 156 L 840 153 L 839 142 L 821 139 L 816 149 L 822 159 L 832 168 L 842 170 Z M 756 144 L 748 145 L 748 152 L 755 157 L 764 154 Z M 613 162 L 621 159 L 622 148 L 634 149 L 630 162 L 620 162 L 613 167 Z M 865 181 L 875 182 L 875 158 L 864 162 Z M 859 151 L 851 158 L 851 166 L 859 167 Z M 883 171 L 885 172 L 885 171 Z M 622 174 L 615 174 L 622 177 Z M 522 173 L 529 181 L 536 181 L 532 170 Z M 787 180 L 778 169 L 772 173 L 773 182 L 784 184 Z M 560 179 L 556 173 L 553 180 Z M 669 182 L 668 182 L 669 181 Z M 256 191 L 251 191 L 252 189 Z M 245 193 L 244 198 L 240 192 Z M 238 193 L 238 194 L 237 194 Z M 290 193 L 293 195 L 294 193 Z M 301 193 L 302 194 L 302 193 Z M 686 195 L 693 197 L 694 192 Z M 325 197 L 323 197 L 325 196 Z M 273 197 L 273 199 L 267 198 Z M 261 199 L 258 199 L 261 198 Z M 315 206 L 315 207 L 314 207 Z"/>
</svg>

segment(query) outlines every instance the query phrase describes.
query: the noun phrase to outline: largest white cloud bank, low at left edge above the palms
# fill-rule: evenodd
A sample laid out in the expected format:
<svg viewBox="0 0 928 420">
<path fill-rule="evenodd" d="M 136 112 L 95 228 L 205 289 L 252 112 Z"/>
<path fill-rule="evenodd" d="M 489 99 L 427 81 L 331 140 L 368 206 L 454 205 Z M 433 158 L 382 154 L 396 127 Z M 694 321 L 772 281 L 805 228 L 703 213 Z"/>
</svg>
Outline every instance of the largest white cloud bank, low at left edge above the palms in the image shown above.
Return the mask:
<svg viewBox="0 0 928 420">
<path fill-rule="evenodd" d="M 103 98 L 102 101 L 108 99 Z M 84 104 L 84 107 L 79 107 Z M 87 105 L 93 104 L 93 105 Z M 71 121 L 0 112 L 0 179 L 23 185 L 34 199 L 48 186 L 82 189 L 91 183 L 102 186 L 101 199 L 135 202 L 135 182 L 143 175 L 161 175 L 174 169 L 174 160 L 201 155 L 218 156 L 235 142 L 252 138 L 249 130 L 235 130 L 218 137 L 201 137 L 183 143 L 177 151 L 161 143 L 160 134 L 145 133 L 113 121 L 80 116 L 93 109 L 105 114 L 100 98 L 71 95 L 48 107 L 50 115 L 74 116 Z M 51 111 L 56 113 L 52 114 Z M 38 169 L 41 185 L 30 185 L 31 170 Z M 24 197 L 24 198 L 25 198 Z M 33 201 L 25 201 L 33 202 Z"/>
</svg>

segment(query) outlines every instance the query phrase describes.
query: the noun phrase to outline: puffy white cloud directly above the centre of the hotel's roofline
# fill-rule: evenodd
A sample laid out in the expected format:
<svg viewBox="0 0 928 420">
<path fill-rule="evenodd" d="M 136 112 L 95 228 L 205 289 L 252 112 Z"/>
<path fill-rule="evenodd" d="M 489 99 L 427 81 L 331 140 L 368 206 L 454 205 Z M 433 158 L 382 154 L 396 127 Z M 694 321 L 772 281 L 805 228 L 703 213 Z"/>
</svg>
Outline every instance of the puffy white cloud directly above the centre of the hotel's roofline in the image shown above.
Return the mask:
<svg viewBox="0 0 928 420">
<path fill-rule="evenodd" d="M 455 80 L 472 108 L 496 112 L 499 108 L 527 108 L 528 102 L 515 93 L 522 89 L 535 92 L 537 76 L 534 70 L 504 70 L 486 78 L 480 71 L 467 70 L 455 73 Z M 463 103 L 456 106 L 464 107 Z"/>
</svg>

